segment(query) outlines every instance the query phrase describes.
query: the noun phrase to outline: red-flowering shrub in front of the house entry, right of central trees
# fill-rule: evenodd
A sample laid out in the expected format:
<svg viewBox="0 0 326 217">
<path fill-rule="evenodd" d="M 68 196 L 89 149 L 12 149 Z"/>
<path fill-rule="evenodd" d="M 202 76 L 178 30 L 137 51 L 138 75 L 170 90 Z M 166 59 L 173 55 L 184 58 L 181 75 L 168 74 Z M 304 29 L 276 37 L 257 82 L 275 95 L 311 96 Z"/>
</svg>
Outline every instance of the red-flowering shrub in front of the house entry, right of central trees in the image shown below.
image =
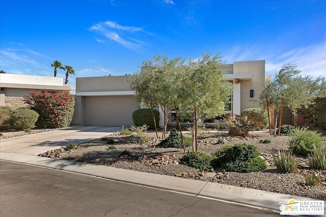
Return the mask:
<svg viewBox="0 0 326 217">
<path fill-rule="evenodd" d="M 255 119 L 250 119 L 248 115 L 240 116 L 238 114 L 229 114 L 231 127 L 247 131 L 255 131 L 264 127 L 264 123 Z"/>
</svg>

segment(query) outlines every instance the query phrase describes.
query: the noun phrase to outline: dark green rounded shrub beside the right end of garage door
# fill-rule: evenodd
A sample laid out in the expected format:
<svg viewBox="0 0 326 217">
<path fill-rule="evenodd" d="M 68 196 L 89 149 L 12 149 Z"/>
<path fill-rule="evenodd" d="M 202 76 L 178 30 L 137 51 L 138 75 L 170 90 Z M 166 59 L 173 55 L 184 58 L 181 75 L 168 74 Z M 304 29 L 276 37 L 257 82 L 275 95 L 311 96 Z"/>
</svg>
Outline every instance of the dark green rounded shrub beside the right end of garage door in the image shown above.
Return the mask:
<svg viewBox="0 0 326 217">
<path fill-rule="evenodd" d="M 156 126 L 158 127 L 159 122 L 159 112 L 157 110 L 154 111 L 154 117 Z M 149 129 L 154 129 L 153 117 L 151 109 L 143 108 L 135 110 L 132 115 L 133 123 L 136 127 L 141 127 L 143 125 L 147 125 Z"/>
</svg>

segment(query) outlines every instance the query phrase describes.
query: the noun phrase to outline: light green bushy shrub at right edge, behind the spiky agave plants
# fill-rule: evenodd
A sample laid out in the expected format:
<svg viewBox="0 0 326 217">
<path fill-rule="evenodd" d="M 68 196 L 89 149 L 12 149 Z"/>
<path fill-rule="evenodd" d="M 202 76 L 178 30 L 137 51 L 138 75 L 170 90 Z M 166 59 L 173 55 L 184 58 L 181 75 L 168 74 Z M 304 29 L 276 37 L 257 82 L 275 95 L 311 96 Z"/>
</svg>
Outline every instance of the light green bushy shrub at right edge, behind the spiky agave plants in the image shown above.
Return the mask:
<svg viewBox="0 0 326 217">
<path fill-rule="evenodd" d="M 290 149 L 300 156 L 308 156 L 313 151 L 313 145 L 320 148 L 325 145 L 326 137 L 316 131 L 310 131 L 307 127 L 295 128 L 289 141 Z"/>
</svg>

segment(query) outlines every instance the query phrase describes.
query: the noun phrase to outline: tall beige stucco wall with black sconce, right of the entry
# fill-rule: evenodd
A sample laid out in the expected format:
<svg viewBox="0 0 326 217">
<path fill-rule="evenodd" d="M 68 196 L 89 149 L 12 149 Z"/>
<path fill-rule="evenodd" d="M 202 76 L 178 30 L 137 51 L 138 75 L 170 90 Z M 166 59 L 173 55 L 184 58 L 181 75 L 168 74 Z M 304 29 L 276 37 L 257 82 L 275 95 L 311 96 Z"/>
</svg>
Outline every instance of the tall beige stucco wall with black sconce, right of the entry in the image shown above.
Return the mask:
<svg viewBox="0 0 326 217">
<path fill-rule="evenodd" d="M 239 80 L 241 83 L 241 111 L 247 108 L 260 107 L 258 101 L 265 82 L 265 60 L 234 62 L 233 73 L 252 73 L 250 80 Z M 251 89 L 254 90 L 253 98 L 250 98 Z"/>
</svg>

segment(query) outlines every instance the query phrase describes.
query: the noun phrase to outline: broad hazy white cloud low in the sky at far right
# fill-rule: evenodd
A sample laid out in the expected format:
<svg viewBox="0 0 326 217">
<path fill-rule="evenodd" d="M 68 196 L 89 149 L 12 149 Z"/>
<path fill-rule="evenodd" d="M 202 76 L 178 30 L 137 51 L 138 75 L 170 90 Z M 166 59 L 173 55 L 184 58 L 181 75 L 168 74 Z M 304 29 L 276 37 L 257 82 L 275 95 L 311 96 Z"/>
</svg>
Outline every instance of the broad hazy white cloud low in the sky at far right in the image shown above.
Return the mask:
<svg viewBox="0 0 326 217">
<path fill-rule="evenodd" d="M 326 77 L 326 42 L 302 46 L 290 50 L 282 50 L 278 46 L 257 45 L 228 47 L 222 53 L 223 59 L 227 63 L 233 61 L 263 60 L 265 59 L 265 74 L 275 76 L 275 74 L 285 64 L 296 64 L 301 70 L 301 75 L 311 75 Z"/>
</svg>

